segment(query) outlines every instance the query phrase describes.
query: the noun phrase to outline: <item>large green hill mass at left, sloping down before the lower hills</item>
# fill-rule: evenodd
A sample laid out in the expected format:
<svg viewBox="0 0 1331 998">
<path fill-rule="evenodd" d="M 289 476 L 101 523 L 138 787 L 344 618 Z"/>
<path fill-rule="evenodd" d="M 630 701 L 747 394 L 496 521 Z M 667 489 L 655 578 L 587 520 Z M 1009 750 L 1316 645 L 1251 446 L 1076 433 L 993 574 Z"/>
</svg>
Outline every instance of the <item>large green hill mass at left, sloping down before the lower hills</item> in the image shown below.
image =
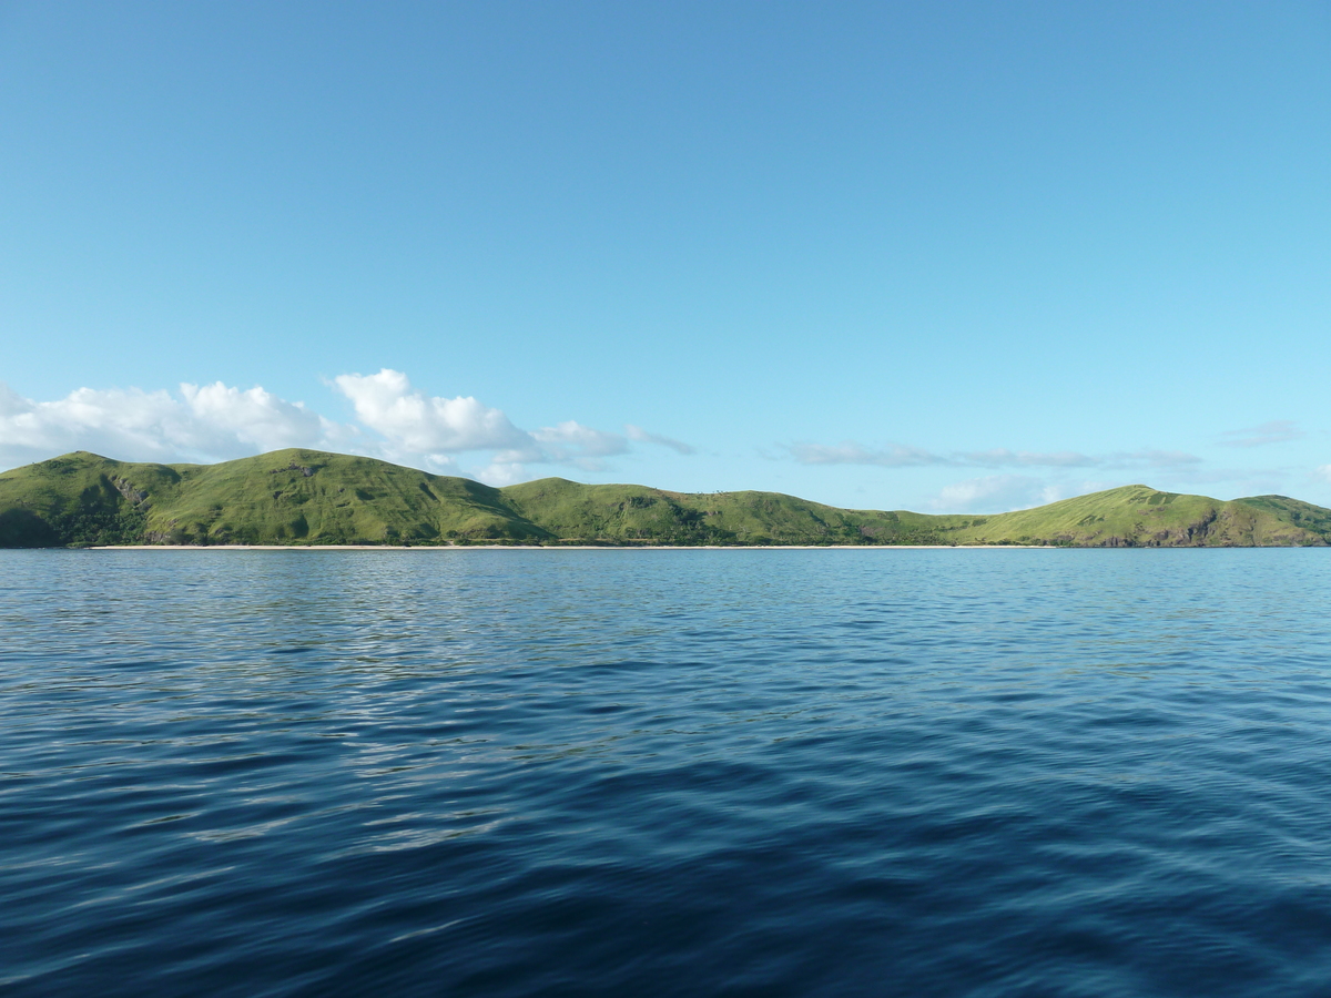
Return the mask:
<svg viewBox="0 0 1331 998">
<path fill-rule="evenodd" d="M 544 538 L 495 488 L 343 454 L 284 450 L 168 466 L 77 452 L 0 475 L 7 547 Z"/>
</svg>

